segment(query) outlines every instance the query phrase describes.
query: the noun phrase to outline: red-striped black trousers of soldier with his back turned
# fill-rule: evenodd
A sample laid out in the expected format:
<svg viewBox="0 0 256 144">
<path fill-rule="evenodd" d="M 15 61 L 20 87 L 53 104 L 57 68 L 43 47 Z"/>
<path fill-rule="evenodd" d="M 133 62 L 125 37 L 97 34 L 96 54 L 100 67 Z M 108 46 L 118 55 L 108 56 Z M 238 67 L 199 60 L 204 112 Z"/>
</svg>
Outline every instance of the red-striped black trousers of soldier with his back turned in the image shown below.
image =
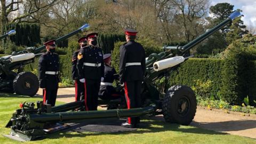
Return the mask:
<svg viewBox="0 0 256 144">
<path fill-rule="evenodd" d="M 124 92 L 127 109 L 141 107 L 141 83 L 142 81 L 124 82 Z M 140 123 L 140 117 L 128 117 L 127 123 Z"/>
</svg>

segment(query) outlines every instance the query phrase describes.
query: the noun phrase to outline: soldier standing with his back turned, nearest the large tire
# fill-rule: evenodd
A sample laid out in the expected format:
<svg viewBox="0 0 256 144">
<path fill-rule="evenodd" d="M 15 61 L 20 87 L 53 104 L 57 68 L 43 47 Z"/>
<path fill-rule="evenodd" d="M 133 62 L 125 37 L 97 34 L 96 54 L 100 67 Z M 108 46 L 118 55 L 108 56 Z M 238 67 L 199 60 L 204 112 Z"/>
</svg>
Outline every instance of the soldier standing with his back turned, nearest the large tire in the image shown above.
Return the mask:
<svg viewBox="0 0 256 144">
<path fill-rule="evenodd" d="M 145 51 L 141 44 L 134 41 L 137 31 L 125 29 L 126 42 L 119 49 L 120 84 L 124 85 L 127 108 L 141 107 L 141 83 L 145 74 Z M 123 127 L 137 127 L 139 117 L 128 117 Z"/>
</svg>

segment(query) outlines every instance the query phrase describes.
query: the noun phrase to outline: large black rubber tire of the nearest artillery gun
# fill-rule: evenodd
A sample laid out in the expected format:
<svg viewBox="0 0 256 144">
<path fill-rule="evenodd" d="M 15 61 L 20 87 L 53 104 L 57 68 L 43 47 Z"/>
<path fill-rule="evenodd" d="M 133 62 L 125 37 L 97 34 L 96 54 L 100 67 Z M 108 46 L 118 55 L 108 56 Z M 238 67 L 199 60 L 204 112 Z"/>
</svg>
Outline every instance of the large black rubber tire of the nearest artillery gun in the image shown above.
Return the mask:
<svg viewBox="0 0 256 144">
<path fill-rule="evenodd" d="M 195 93 L 190 87 L 171 86 L 162 105 L 164 119 L 169 123 L 189 125 L 196 114 L 196 106 Z"/>
</svg>

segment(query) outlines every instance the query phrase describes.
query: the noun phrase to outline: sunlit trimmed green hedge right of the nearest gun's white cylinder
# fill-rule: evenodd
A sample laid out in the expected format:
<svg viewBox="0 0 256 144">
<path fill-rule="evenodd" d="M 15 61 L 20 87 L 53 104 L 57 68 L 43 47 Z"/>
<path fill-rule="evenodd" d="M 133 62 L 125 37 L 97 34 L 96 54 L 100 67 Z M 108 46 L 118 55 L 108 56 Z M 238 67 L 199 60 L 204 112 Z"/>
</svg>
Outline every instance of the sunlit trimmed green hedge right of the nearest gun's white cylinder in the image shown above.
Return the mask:
<svg viewBox="0 0 256 144">
<path fill-rule="evenodd" d="M 170 75 L 170 85 L 196 86 L 196 81 L 211 81 L 209 95 L 217 95 L 222 87 L 221 71 L 224 60 L 190 58 Z M 208 97 L 209 95 L 201 95 Z"/>
</svg>

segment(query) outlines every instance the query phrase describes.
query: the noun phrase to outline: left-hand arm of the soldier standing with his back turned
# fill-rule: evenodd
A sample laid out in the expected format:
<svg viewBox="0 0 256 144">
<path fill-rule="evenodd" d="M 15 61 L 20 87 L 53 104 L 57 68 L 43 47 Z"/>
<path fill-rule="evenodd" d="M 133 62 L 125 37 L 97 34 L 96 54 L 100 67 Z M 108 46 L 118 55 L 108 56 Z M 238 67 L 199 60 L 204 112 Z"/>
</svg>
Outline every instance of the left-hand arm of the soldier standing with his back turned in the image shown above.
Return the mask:
<svg viewBox="0 0 256 144">
<path fill-rule="evenodd" d="M 120 61 L 119 61 L 119 79 L 120 79 L 120 83 L 123 84 L 124 83 L 124 73 L 125 73 L 125 63 L 126 63 L 126 49 L 125 47 L 122 45 L 120 46 Z"/>
</svg>

